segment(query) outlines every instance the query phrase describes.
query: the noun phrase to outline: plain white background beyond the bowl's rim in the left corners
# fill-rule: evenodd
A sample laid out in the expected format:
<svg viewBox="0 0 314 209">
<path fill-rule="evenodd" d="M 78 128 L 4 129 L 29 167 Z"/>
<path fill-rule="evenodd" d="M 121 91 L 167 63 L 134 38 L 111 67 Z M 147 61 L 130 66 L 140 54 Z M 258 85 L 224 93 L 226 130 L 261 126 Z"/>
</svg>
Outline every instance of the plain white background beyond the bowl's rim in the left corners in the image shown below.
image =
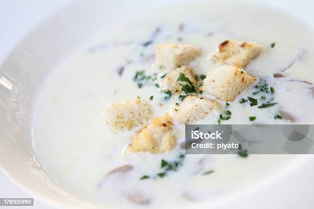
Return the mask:
<svg viewBox="0 0 314 209">
<path fill-rule="evenodd" d="M 0 0 L 0 65 L 25 35 L 57 10 L 72 2 L 74 0 Z M 0 171 L 0 198 L 28 197 L 31 196 L 16 187 Z M 0 206 L 0 208 L 4 207 Z M 20 206 L 9 208 L 21 209 Z M 34 200 L 33 208 L 50 209 L 52 207 Z"/>
</svg>

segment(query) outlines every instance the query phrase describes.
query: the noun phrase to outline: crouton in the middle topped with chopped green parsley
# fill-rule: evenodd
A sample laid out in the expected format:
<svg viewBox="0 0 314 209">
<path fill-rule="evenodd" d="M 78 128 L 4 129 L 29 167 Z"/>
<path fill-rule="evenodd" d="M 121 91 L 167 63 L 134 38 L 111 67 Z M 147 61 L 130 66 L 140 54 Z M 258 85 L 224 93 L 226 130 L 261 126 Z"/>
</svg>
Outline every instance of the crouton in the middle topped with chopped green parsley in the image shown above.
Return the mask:
<svg viewBox="0 0 314 209">
<path fill-rule="evenodd" d="M 175 69 L 173 72 L 168 73 L 166 77 L 161 81 L 161 87 L 170 90 L 174 94 L 182 93 L 182 86 L 179 83 L 185 83 L 182 80 L 178 80 L 180 73 L 183 73 L 185 77 L 189 78 L 190 81 L 197 88 L 197 80 L 195 79 L 195 72 L 193 69 L 186 66 Z"/>
</svg>

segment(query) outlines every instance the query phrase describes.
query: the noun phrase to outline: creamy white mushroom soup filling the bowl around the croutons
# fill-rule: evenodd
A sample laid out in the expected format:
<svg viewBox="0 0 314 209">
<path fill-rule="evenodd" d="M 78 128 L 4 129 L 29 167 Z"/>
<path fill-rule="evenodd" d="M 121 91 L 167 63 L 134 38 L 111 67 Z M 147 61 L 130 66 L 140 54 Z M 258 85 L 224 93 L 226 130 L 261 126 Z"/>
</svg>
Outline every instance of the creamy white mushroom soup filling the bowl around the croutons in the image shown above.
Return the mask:
<svg viewBox="0 0 314 209">
<path fill-rule="evenodd" d="M 153 116 L 171 115 L 171 107 L 181 102 L 176 95 L 165 100 L 167 94 L 156 85 L 165 74 L 154 65 L 158 44 L 187 43 L 202 48 L 202 55 L 189 63 L 198 75 L 217 67 L 208 57 L 224 40 L 264 46 L 245 71 L 274 89 L 276 105 L 259 109 L 241 103 L 256 92 L 252 86 L 228 102 L 232 116 L 222 124 L 311 124 L 314 116 L 314 34 L 297 18 L 239 3 L 172 5 L 136 16 L 111 33 L 100 32 L 82 43 L 43 82 L 33 105 L 31 137 L 35 156 L 50 179 L 75 196 L 111 207 L 173 207 L 205 200 L 214 204 L 266 182 L 299 160 L 291 155 L 182 157 L 184 125 L 175 121 L 176 142 L 170 152 L 123 154 L 140 127 L 112 133 L 103 118 L 110 102 L 139 97 Z M 133 78 L 143 70 L 156 79 L 139 88 Z M 261 95 L 255 97 L 259 102 Z M 225 101 L 210 98 L 225 106 Z M 250 116 L 256 119 L 250 121 Z M 218 119 L 219 115 L 209 115 L 193 123 L 218 124 Z M 162 171 L 162 159 L 180 165 L 165 176 L 156 175 Z"/>
</svg>

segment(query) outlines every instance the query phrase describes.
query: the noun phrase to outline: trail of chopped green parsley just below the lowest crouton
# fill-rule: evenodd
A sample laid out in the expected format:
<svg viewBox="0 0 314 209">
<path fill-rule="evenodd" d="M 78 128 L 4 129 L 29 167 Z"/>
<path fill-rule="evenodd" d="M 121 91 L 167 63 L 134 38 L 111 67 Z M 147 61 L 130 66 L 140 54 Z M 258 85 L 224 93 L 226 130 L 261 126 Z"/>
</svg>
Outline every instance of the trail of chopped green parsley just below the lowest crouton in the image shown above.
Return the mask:
<svg viewBox="0 0 314 209">
<path fill-rule="evenodd" d="M 163 178 L 165 177 L 169 172 L 175 172 L 180 169 L 180 167 L 183 165 L 183 161 L 185 159 L 185 154 L 181 153 L 178 158 L 174 161 L 167 161 L 162 159 L 161 160 L 161 169 L 162 171 L 160 173 L 157 173 L 156 175 L 153 175 L 152 178 Z M 140 178 L 140 180 L 148 179 L 151 176 L 144 175 Z"/>
</svg>

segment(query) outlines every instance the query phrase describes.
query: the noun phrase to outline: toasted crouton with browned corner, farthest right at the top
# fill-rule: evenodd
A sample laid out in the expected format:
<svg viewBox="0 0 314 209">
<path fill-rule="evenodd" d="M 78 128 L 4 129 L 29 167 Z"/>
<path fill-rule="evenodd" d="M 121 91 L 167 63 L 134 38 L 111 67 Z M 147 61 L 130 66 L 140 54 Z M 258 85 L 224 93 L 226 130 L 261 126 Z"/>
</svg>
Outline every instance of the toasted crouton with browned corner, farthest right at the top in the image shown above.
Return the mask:
<svg viewBox="0 0 314 209">
<path fill-rule="evenodd" d="M 247 66 L 251 59 L 255 59 L 262 51 L 263 46 L 237 40 L 226 40 L 219 45 L 217 53 L 211 56 L 214 62 L 232 65 L 239 68 Z"/>
</svg>

